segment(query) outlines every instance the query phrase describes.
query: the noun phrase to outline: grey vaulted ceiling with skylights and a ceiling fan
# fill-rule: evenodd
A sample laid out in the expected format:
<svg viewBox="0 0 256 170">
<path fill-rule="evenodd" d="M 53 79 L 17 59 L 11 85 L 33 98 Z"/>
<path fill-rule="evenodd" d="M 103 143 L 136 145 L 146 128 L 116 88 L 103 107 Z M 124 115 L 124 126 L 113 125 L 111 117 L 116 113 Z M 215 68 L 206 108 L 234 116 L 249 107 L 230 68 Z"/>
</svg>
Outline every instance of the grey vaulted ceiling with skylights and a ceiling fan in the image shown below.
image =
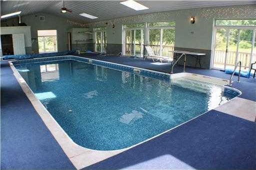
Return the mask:
<svg viewBox="0 0 256 170">
<path fill-rule="evenodd" d="M 122 0 L 124 1 L 124 0 Z M 196 7 L 225 6 L 238 4 L 256 4 L 255 0 L 142 0 L 139 3 L 149 9 L 136 11 L 120 4 L 119 0 L 65 0 L 65 7 L 71 9 L 71 13 L 61 13 L 62 0 L 4 0 L 0 2 L 0 14 L 8 14 L 22 11 L 22 15 L 45 12 L 66 17 L 70 20 L 94 22 L 123 17 L 135 14 L 186 9 Z M 80 13 L 88 13 L 97 16 L 97 19 L 89 19 L 79 16 Z"/>
</svg>

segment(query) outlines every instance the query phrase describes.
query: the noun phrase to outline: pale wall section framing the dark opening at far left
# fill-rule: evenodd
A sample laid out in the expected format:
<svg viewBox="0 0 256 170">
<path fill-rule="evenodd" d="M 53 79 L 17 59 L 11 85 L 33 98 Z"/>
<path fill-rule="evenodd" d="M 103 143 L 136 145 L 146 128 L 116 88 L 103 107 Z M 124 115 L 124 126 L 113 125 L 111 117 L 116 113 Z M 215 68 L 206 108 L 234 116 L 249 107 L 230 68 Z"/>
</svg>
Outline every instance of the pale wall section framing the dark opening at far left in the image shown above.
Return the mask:
<svg viewBox="0 0 256 170">
<path fill-rule="evenodd" d="M 25 38 L 25 47 L 31 47 L 30 26 L 6 26 L 0 27 L 0 34 L 17 34 L 23 33 Z"/>
</svg>

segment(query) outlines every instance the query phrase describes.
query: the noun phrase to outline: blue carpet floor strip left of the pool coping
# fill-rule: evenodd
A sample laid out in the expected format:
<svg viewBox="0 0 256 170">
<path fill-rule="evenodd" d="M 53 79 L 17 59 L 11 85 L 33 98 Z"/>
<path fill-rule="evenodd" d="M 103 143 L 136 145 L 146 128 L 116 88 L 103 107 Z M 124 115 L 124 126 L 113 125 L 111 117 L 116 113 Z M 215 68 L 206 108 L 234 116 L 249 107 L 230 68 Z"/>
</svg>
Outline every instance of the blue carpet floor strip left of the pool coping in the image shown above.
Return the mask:
<svg viewBox="0 0 256 170">
<path fill-rule="evenodd" d="M 74 169 L 23 93 L 7 62 L 1 62 L 1 170 Z"/>
</svg>

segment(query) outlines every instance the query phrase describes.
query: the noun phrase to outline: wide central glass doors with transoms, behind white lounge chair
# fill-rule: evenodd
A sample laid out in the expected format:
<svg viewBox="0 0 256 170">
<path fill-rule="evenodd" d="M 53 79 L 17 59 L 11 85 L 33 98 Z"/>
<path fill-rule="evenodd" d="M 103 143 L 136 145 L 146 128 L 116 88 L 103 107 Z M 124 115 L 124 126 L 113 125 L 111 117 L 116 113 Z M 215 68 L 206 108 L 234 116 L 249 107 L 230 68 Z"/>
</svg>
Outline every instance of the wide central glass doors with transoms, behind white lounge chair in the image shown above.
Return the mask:
<svg viewBox="0 0 256 170">
<path fill-rule="evenodd" d="M 175 21 L 125 24 L 122 33 L 123 55 L 143 57 L 143 45 L 149 45 L 155 55 L 173 57 Z"/>
</svg>

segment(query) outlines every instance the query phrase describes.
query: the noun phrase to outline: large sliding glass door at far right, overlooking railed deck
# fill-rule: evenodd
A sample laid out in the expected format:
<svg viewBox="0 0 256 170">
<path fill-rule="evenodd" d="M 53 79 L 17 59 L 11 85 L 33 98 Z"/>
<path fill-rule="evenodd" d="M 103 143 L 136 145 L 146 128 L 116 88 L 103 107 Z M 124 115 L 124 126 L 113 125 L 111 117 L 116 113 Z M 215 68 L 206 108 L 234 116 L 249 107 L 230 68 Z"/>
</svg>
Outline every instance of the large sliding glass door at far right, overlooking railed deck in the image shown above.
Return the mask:
<svg viewBox="0 0 256 170">
<path fill-rule="evenodd" d="M 224 21 L 220 23 L 223 24 Z M 231 23 L 234 21 L 236 20 Z M 240 22 L 236 21 L 236 24 Z M 253 20 L 250 22 L 253 24 Z M 235 63 L 241 61 L 242 70 L 248 70 L 250 63 L 256 61 L 255 30 L 256 26 L 251 25 L 215 26 L 212 67 L 221 70 L 233 69 Z"/>
</svg>

